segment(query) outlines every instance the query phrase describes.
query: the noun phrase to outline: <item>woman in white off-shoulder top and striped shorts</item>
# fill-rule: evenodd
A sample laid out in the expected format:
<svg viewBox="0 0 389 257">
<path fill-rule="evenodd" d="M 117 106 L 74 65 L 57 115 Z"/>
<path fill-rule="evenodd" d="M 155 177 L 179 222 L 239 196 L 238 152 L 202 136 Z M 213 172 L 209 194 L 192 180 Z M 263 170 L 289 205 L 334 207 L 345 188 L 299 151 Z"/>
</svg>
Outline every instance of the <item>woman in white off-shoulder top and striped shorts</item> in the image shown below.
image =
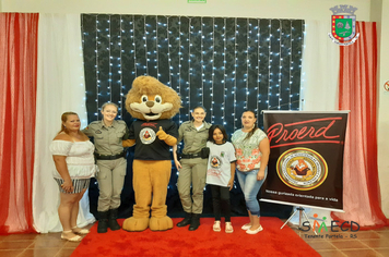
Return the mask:
<svg viewBox="0 0 389 257">
<path fill-rule="evenodd" d="M 62 224 L 61 238 L 71 242 L 81 241 L 90 231 L 76 227 L 79 201 L 89 188 L 94 176 L 94 146 L 89 137 L 80 132 L 80 118 L 74 112 L 64 112 L 61 117 L 62 128 L 50 144 L 56 164 L 54 179 L 59 185 L 59 220 Z"/>
</svg>

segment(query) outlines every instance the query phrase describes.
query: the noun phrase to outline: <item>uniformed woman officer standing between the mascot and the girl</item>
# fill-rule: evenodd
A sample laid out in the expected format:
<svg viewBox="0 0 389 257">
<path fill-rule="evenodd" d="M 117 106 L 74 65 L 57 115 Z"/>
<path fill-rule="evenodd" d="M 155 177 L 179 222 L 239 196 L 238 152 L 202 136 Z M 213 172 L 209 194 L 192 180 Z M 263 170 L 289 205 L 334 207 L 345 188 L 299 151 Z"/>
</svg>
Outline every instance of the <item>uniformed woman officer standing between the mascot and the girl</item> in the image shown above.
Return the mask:
<svg viewBox="0 0 389 257">
<path fill-rule="evenodd" d="M 192 121 L 184 122 L 178 130 L 178 140 L 184 139 L 181 159 L 177 158 L 177 146 L 173 147 L 173 157 L 179 171 L 177 188 L 181 199 L 185 219 L 177 227 L 189 225 L 189 230 L 197 230 L 200 225 L 200 216 L 203 205 L 203 191 L 205 186 L 208 157 L 201 156 L 207 145 L 210 123 L 204 121 L 207 115 L 204 107 L 196 107 L 191 112 Z M 190 195 L 192 185 L 192 196 Z"/>
</svg>

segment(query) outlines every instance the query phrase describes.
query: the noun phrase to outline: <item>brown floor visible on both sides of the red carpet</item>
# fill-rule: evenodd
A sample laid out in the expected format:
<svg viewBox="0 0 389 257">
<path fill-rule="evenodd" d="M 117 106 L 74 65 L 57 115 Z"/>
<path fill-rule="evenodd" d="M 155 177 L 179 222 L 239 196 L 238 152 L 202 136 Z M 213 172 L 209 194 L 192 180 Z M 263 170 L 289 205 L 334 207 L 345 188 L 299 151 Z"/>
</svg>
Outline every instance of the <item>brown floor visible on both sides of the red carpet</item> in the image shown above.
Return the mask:
<svg viewBox="0 0 389 257">
<path fill-rule="evenodd" d="M 322 232 L 318 236 L 291 228 L 321 256 L 389 256 L 389 227 L 357 232 Z M 0 256 L 68 257 L 78 245 L 61 240 L 60 233 L 0 235 Z"/>
</svg>

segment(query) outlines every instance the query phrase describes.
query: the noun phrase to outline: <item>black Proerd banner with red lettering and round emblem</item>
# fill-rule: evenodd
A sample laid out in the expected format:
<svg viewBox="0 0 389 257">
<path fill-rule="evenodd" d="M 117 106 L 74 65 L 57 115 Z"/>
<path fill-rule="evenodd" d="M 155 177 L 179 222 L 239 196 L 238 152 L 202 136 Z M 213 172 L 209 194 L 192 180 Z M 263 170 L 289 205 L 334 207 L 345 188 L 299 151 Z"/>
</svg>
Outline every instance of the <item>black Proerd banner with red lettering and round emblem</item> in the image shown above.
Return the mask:
<svg viewBox="0 0 389 257">
<path fill-rule="evenodd" d="M 341 211 L 349 111 L 263 111 L 270 140 L 261 200 Z"/>
</svg>

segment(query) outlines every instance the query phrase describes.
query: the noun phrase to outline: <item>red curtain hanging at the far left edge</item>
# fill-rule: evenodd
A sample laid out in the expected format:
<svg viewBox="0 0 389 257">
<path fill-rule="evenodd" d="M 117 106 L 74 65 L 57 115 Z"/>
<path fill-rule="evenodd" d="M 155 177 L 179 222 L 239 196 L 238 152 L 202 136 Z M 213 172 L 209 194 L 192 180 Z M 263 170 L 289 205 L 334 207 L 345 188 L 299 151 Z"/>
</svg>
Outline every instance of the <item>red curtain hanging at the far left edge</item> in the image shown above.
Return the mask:
<svg viewBox="0 0 389 257">
<path fill-rule="evenodd" d="M 0 13 L 0 233 L 34 232 L 37 13 Z"/>
</svg>

